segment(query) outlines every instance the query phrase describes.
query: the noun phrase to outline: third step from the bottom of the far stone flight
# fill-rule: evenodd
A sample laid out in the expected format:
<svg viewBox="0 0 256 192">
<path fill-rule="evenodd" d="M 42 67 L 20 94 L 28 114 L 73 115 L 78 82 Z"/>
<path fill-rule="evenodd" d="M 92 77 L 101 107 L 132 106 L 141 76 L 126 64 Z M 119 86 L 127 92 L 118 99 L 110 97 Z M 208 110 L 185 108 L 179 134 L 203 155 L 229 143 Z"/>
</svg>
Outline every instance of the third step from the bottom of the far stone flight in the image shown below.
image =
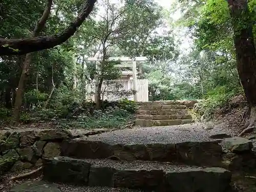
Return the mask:
<svg viewBox="0 0 256 192">
<path fill-rule="evenodd" d="M 161 110 L 161 111 L 137 111 L 138 115 L 187 115 L 188 112 L 185 109 L 180 110 Z"/>
</svg>

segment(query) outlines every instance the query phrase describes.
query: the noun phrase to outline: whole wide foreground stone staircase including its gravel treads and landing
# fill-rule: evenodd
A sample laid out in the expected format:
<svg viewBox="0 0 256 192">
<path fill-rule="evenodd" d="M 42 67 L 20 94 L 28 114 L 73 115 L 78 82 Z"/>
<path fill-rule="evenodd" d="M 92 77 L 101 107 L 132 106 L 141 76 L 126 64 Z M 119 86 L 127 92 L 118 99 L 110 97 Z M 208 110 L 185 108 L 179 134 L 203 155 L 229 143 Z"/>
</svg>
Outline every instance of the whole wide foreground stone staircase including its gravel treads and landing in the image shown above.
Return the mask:
<svg viewBox="0 0 256 192">
<path fill-rule="evenodd" d="M 232 172 L 256 167 L 249 140 L 212 139 L 200 124 L 84 137 L 55 132 L 46 130 L 38 137 L 49 139 L 42 150 L 43 180 L 17 185 L 10 192 L 234 192 Z M 50 143 L 51 157 L 46 157 Z"/>
</svg>

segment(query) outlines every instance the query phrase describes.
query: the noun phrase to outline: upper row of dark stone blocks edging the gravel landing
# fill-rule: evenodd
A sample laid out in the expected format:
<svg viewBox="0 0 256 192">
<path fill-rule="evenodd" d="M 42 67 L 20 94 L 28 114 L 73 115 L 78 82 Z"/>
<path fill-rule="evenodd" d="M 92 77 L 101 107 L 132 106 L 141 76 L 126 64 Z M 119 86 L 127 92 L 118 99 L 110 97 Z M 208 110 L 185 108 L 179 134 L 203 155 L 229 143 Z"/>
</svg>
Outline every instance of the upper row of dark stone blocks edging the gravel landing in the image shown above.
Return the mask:
<svg viewBox="0 0 256 192">
<path fill-rule="evenodd" d="M 186 138 L 185 135 L 183 137 Z M 144 160 L 225 167 L 221 145 L 215 140 L 182 141 L 181 139 L 176 143 L 122 144 L 75 139 L 63 141 L 60 154 L 78 159 L 111 158 L 122 161 Z"/>
</svg>

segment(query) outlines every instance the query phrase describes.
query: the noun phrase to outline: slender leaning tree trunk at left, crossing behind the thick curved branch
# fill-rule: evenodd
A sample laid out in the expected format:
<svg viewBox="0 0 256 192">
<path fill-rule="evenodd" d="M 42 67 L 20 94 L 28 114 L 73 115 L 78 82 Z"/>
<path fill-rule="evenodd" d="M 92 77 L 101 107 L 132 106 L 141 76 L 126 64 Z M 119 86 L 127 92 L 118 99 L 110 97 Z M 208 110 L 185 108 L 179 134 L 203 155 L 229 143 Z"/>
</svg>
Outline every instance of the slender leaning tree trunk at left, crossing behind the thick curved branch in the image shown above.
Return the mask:
<svg viewBox="0 0 256 192">
<path fill-rule="evenodd" d="M 37 36 L 39 34 L 39 32 L 42 30 L 42 28 L 45 26 L 45 23 L 49 17 L 50 11 L 51 11 L 51 6 L 52 6 L 52 0 L 48 0 L 45 11 L 44 11 L 44 13 L 42 13 L 42 16 L 41 16 L 39 22 L 37 23 L 37 25 L 32 33 L 32 36 L 34 36 L 34 37 Z M 16 125 L 16 124 L 18 124 L 18 121 L 19 121 L 20 110 L 22 108 L 22 103 L 23 103 L 25 82 L 26 82 L 26 79 L 28 76 L 31 60 L 32 60 L 32 53 L 26 54 L 25 61 L 23 63 L 22 74 L 20 75 L 19 82 L 18 82 L 18 90 L 16 92 L 14 109 L 13 109 L 13 114 L 12 114 L 12 118 L 11 118 L 11 122 L 10 122 L 11 125 Z"/>
</svg>

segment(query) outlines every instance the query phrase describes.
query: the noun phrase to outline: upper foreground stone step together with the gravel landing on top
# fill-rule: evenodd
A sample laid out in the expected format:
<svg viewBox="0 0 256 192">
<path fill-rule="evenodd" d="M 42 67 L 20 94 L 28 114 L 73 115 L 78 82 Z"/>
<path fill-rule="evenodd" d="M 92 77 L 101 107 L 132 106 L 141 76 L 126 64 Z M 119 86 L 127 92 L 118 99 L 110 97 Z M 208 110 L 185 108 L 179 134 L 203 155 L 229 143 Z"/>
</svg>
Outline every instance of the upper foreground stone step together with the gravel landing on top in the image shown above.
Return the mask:
<svg viewBox="0 0 256 192">
<path fill-rule="evenodd" d="M 153 127 L 127 129 L 83 139 L 65 140 L 61 156 L 74 158 L 115 158 L 134 161 L 178 162 L 189 165 L 222 165 L 219 141 L 209 139 L 204 130 Z"/>
</svg>

